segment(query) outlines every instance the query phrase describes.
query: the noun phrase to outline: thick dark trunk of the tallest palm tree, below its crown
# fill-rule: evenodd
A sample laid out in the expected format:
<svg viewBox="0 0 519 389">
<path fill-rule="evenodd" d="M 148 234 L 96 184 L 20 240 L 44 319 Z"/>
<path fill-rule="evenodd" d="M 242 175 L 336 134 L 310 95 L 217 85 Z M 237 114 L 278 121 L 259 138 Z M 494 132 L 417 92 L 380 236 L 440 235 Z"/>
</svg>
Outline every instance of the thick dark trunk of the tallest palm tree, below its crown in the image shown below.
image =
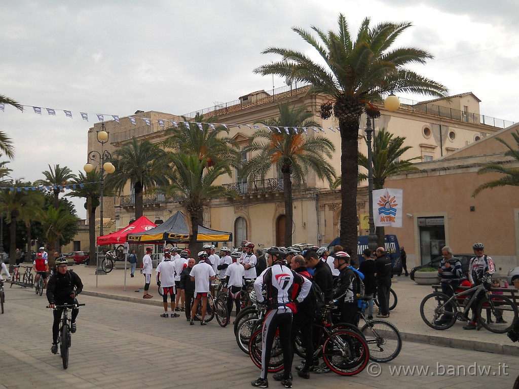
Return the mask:
<svg viewBox="0 0 519 389">
<path fill-rule="evenodd" d="M 359 119 L 339 121 L 340 128 L 340 243 L 348 254 L 357 253 L 357 177 L 359 175 Z"/>
</svg>

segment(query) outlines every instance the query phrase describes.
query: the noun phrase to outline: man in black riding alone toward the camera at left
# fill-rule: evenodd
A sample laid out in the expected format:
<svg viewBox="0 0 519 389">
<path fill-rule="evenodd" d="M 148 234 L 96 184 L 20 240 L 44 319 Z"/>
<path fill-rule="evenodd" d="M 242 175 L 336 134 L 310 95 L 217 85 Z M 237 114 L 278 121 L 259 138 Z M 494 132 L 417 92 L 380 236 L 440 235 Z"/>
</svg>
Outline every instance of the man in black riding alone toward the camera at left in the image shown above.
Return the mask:
<svg viewBox="0 0 519 389">
<path fill-rule="evenodd" d="M 83 283 L 79 276 L 67 270 L 67 261 L 65 258 L 60 259 L 56 262 L 58 271 L 54 273 L 47 286 L 47 300 L 49 301 L 49 308 L 55 308 L 56 305 L 63 304 L 77 304 L 76 296 L 83 290 Z M 52 354 L 58 353 L 58 335 L 60 328 L 60 319 L 62 309 L 54 310 L 54 321 L 52 322 L 52 348 L 50 351 Z M 72 321 L 71 331 L 74 334 L 76 332 L 76 317 L 79 313 L 78 308 L 72 309 Z"/>
</svg>

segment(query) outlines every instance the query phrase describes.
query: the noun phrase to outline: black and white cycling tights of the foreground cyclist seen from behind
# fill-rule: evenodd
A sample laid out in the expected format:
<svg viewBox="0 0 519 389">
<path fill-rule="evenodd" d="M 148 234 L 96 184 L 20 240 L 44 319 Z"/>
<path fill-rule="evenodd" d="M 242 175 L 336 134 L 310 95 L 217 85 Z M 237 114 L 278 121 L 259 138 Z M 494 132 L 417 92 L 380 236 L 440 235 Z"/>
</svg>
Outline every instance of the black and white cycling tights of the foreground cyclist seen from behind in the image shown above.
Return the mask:
<svg viewBox="0 0 519 389">
<path fill-rule="evenodd" d="M 263 348 L 261 357 L 261 374 L 260 378 L 267 378 L 267 366 L 270 362 L 270 351 L 272 350 L 272 342 L 276 336 L 276 331 L 279 328 L 279 342 L 281 343 L 281 350 L 284 358 L 284 378 L 290 377 L 292 370 L 292 346 L 290 344 L 291 330 L 292 330 L 292 311 L 290 309 L 272 309 L 267 311 L 265 321 L 263 322 Z"/>
</svg>

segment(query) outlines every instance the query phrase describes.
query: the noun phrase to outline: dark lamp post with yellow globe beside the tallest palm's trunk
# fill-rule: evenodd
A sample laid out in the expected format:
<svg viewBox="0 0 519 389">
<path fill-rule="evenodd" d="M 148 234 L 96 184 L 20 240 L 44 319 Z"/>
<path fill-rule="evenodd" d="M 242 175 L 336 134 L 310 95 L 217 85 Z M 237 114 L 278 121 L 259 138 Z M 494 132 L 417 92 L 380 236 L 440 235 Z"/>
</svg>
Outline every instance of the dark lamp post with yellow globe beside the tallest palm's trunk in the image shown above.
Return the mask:
<svg viewBox="0 0 519 389">
<path fill-rule="evenodd" d="M 397 96 L 391 92 L 389 96 L 384 100 L 384 107 L 390 111 L 394 112 L 400 107 L 400 100 Z M 370 225 L 370 232 L 367 236 L 367 248 L 369 248 L 372 253 L 377 249 L 377 235 L 375 233 L 375 222 L 373 219 L 373 153 L 371 148 L 371 140 L 375 127 L 375 119 L 373 118 L 373 127 L 371 127 L 371 117 L 367 115 L 366 119 L 366 145 L 367 145 L 367 193 L 368 193 L 368 206 L 370 218 L 368 223 Z"/>
</svg>

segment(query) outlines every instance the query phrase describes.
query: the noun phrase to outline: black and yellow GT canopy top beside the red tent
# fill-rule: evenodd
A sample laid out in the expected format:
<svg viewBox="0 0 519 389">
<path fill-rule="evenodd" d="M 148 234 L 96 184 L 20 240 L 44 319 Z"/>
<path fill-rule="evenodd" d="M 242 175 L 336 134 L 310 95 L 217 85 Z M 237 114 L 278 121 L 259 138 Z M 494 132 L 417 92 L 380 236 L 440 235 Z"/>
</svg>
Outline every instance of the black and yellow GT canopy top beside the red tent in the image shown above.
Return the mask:
<svg viewBox="0 0 519 389">
<path fill-rule="evenodd" d="M 184 214 L 177 211 L 164 223 L 151 230 L 127 235 L 128 243 L 189 243 L 189 227 Z M 212 230 L 198 225 L 197 242 L 230 242 L 232 232 Z"/>
</svg>

